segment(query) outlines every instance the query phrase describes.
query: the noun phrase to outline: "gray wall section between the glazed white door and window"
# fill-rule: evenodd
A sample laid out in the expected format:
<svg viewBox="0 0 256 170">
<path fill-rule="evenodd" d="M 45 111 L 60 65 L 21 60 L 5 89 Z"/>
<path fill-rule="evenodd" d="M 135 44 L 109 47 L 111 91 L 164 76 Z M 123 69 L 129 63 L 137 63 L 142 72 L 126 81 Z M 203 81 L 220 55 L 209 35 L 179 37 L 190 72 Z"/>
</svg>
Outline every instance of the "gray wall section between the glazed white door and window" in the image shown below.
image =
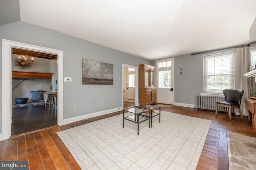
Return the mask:
<svg viewBox="0 0 256 170">
<path fill-rule="evenodd" d="M 226 49 L 197 55 L 182 55 L 174 59 L 174 102 L 196 104 L 196 94 L 203 93 L 204 55 L 235 51 Z M 180 75 L 182 68 L 182 75 Z"/>
</svg>

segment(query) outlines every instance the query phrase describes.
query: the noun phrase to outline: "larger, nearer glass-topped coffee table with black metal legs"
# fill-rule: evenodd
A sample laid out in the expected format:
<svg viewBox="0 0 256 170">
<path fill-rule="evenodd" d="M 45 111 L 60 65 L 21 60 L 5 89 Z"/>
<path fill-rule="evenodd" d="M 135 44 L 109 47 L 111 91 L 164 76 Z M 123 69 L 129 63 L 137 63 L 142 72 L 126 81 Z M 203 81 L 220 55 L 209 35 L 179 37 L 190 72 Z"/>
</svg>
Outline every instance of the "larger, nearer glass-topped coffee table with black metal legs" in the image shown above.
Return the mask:
<svg viewBox="0 0 256 170">
<path fill-rule="evenodd" d="M 123 109 L 123 128 L 124 128 L 124 119 L 138 124 L 138 134 L 137 135 L 139 135 L 140 123 L 142 123 L 146 120 L 149 120 L 149 128 L 150 128 L 150 116 L 147 116 L 146 114 L 143 115 L 143 113 L 146 113 L 148 111 L 151 113 L 150 109 L 144 109 L 144 108 L 136 107 L 136 106 L 128 108 L 128 109 Z M 130 114 L 128 114 L 128 116 L 124 117 L 124 113 L 130 113 Z M 140 117 L 145 117 L 145 119 L 140 121 Z"/>
</svg>

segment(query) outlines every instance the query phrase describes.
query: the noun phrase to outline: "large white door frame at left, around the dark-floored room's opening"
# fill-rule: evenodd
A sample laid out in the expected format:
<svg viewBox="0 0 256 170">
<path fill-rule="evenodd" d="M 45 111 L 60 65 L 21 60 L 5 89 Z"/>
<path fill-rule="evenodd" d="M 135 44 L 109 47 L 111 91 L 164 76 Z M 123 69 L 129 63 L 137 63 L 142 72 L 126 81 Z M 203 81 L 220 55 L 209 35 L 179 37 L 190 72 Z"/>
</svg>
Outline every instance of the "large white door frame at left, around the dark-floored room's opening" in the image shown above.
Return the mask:
<svg viewBox="0 0 256 170">
<path fill-rule="evenodd" d="M 57 124 L 63 125 L 63 51 L 2 39 L 2 138 L 11 136 L 12 113 L 12 47 L 58 55 Z"/>
</svg>

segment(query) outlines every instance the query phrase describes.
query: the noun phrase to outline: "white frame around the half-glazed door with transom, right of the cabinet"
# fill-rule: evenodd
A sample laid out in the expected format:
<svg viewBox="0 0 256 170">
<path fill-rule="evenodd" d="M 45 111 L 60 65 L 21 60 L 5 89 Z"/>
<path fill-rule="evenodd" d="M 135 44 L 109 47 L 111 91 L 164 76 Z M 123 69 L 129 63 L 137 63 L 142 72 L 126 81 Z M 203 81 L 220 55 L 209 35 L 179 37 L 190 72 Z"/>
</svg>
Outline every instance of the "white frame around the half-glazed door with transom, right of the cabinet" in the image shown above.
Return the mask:
<svg viewBox="0 0 256 170">
<path fill-rule="evenodd" d="M 156 90 L 158 89 L 158 71 L 160 70 L 161 71 L 161 68 L 158 68 L 158 63 L 159 62 L 163 62 L 163 61 L 172 61 L 172 66 L 171 67 L 166 67 L 166 68 L 162 68 L 163 70 L 164 69 L 172 69 L 172 72 L 171 72 L 171 76 L 172 76 L 172 86 L 171 88 L 173 88 L 173 91 L 172 91 L 172 105 L 174 104 L 174 91 L 175 91 L 175 88 L 174 88 L 174 57 L 171 57 L 171 58 L 168 58 L 168 59 L 162 59 L 162 60 L 156 60 Z M 157 92 L 157 91 L 156 91 Z M 156 94 L 157 96 L 157 94 Z M 157 97 L 156 97 L 156 102 L 157 102 Z"/>
</svg>

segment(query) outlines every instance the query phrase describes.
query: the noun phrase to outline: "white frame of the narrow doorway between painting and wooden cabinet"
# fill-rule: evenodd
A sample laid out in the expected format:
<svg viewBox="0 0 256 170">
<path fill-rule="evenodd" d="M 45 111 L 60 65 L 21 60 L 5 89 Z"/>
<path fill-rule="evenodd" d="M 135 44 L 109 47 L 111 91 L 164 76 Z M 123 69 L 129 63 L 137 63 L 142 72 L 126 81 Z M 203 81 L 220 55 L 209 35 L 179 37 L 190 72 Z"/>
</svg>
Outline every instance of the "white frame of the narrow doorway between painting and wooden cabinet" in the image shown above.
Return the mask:
<svg viewBox="0 0 256 170">
<path fill-rule="evenodd" d="M 121 93 L 121 101 L 122 101 L 122 109 L 124 109 L 124 67 L 130 67 L 135 68 L 135 87 L 134 87 L 134 106 L 139 106 L 138 103 L 138 87 L 139 87 L 139 81 L 138 81 L 138 75 L 139 75 L 139 67 L 138 66 L 132 66 L 129 64 L 122 64 L 122 93 Z"/>
</svg>

